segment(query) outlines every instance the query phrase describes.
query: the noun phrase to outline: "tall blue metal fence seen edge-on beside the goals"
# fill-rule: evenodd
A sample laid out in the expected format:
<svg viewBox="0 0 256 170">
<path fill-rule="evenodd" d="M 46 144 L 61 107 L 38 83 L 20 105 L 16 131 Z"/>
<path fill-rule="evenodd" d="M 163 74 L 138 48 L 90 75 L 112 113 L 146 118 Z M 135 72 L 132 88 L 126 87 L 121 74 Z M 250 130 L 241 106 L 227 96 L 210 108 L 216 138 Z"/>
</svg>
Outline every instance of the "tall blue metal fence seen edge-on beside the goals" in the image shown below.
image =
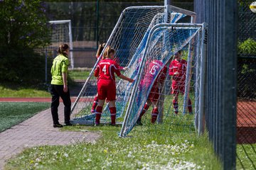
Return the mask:
<svg viewBox="0 0 256 170">
<path fill-rule="evenodd" d="M 197 22 L 208 23 L 206 128 L 223 169 L 235 169 L 237 2 L 194 2 Z"/>
</svg>

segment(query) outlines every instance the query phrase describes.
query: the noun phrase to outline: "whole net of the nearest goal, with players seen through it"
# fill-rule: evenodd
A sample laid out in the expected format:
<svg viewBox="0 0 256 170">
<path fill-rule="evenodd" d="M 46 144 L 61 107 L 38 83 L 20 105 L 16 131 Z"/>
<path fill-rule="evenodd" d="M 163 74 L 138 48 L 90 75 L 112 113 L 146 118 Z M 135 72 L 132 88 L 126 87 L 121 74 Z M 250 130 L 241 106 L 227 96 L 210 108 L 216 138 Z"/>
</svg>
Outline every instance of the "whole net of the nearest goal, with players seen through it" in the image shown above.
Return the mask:
<svg viewBox="0 0 256 170">
<path fill-rule="evenodd" d="M 138 129 L 147 132 L 194 130 L 193 113 L 198 115 L 200 107 L 202 30 L 202 25 L 186 23 L 161 23 L 151 29 L 144 52 L 135 62 L 137 79 L 120 136 L 128 135 L 140 118 L 144 125 Z M 174 55 L 179 51 L 183 62 L 177 64 Z M 166 79 L 169 74 L 171 79 Z M 168 84 L 171 94 L 165 90 Z M 151 113 L 140 116 L 146 110 Z"/>
</svg>

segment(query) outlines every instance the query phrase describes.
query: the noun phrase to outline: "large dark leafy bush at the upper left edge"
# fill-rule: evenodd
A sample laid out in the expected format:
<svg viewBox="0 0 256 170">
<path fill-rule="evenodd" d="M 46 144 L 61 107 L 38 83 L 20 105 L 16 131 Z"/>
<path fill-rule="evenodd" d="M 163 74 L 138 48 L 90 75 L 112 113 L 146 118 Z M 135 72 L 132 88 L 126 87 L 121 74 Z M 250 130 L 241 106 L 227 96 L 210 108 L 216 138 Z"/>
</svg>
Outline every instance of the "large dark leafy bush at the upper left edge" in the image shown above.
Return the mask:
<svg viewBox="0 0 256 170">
<path fill-rule="evenodd" d="M 39 0 L 0 1 L 0 81 L 38 83 L 44 57 L 36 49 L 50 42 L 45 4 Z"/>
</svg>

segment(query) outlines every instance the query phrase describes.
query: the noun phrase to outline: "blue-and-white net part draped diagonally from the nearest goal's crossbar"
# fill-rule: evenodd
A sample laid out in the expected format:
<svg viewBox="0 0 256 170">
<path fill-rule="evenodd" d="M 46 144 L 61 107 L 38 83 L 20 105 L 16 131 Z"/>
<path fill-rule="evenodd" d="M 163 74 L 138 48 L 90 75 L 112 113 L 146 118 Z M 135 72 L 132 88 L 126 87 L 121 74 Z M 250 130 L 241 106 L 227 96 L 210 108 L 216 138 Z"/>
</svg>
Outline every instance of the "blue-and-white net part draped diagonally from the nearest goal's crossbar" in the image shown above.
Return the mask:
<svg viewBox="0 0 256 170">
<path fill-rule="evenodd" d="M 142 52 L 133 62 L 132 77 L 136 78 L 136 81 L 129 91 L 131 97 L 120 132 L 121 136 L 126 136 L 134 128 L 146 102 L 159 105 L 159 95 L 164 94 L 164 91 L 159 91 L 159 89 L 160 86 L 162 88 L 165 86 L 165 80 L 169 74 L 167 71 L 164 72 L 164 69 L 169 67 L 176 52 L 179 50 L 188 52 L 188 48 L 191 50 L 191 47 L 188 47 L 189 43 L 195 45 L 194 38 L 199 30 L 201 27 L 189 28 L 168 26 L 168 24 L 159 24 L 151 30 L 147 42 L 140 47 Z M 192 55 L 191 52 L 187 54 L 188 57 Z M 169 106 L 171 105 L 166 106 L 165 109 L 170 110 Z M 167 111 L 167 113 L 169 112 Z M 151 115 L 153 118 L 153 111 Z"/>
</svg>

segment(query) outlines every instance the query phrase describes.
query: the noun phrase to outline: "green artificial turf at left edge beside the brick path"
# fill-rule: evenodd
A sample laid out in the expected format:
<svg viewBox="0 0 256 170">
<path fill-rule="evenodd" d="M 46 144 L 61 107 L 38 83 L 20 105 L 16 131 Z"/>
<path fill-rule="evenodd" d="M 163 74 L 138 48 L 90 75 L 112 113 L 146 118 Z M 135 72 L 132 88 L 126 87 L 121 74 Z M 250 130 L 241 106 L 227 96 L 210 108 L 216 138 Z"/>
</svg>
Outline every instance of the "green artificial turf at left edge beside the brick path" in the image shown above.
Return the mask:
<svg viewBox="0 0 256 170">
<path fill-rule="evenodd" d="M 21 123 L 39 111 L 50 107 L 50 103 L 0 103 L 0 132 Z"/>
</svg>

